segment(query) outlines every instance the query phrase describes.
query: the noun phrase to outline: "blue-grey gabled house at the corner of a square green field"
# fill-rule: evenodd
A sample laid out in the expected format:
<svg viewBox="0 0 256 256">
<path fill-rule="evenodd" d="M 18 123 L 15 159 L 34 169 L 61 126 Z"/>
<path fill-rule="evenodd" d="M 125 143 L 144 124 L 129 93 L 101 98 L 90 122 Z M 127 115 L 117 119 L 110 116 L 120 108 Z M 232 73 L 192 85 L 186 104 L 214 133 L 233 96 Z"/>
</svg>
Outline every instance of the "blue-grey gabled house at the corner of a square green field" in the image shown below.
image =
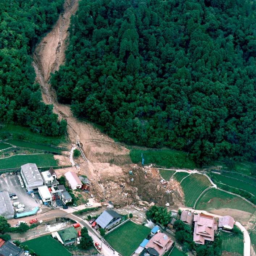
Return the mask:
<svg viewBox="0 0 256 256">
<path fill-rule="evenodd" d="M 105 230 L 113 227 L 121 221 L 122 216 L 113 210 L 104 211 L 97 219 L 96 223 Z"/>
</svg>

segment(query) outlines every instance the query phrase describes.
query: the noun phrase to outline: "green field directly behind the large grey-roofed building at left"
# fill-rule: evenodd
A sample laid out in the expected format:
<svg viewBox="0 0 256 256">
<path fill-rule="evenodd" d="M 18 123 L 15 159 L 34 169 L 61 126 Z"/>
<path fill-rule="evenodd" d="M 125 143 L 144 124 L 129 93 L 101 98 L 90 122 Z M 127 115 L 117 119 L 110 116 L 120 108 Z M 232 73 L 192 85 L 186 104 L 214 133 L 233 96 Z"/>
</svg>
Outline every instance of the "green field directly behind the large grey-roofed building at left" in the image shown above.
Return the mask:
<svg viewBox="0 0 256 256">
<path fill-rule="evenodd" d="M 26 163 L 35 163 L 37 167 L 58 165 L 53 154 L 14 155 L 9 158 L 0 158 L 0 169 L 18 168 Z"/>
</svg>

